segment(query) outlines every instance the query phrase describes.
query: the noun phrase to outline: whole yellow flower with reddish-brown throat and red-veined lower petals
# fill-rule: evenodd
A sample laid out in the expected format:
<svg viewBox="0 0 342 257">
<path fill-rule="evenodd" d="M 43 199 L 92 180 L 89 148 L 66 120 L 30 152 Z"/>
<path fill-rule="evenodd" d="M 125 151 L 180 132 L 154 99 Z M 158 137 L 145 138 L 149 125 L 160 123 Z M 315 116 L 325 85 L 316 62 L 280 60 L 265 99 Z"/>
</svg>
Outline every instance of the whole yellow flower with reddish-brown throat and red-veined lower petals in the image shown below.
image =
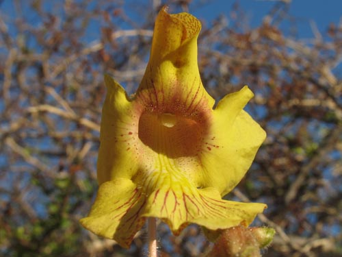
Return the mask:
<svg viewBox="0 0 342 257">
<path fill-rule="evenodd" d="M 188 223 L 208 230 L 249 225 L 265 204 L 222 199 L 244 177 L 265 132 L 244 110 L 247 86 L 215 100 L 200 80 L 200 22 L 157 16 L 150 61 L 133 97 L 105 76 L 98 195 L 81 224 L 129 247 L 146 217 L 174 234 Z"/>
</svg>

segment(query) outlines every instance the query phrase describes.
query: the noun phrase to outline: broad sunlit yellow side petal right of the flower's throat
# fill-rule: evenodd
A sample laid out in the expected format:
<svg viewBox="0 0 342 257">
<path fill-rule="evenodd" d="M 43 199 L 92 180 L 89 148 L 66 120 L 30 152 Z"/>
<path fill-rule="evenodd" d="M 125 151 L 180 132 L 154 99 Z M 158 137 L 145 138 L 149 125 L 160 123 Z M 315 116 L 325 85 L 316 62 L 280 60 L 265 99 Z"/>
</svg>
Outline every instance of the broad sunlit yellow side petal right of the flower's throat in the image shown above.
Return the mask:
<svg viewBox="0 0 342 257">
<path fill-rule="evenodd" d="M 247 86 L 227 95 L 213 112 L 211 132 L 205 138 L 201 155 L 205 175 L 202 186 L 230 192 L 244 177 L 263 140 L 265 131 L 242 110 L 253 93 Z"/>
</svg>

